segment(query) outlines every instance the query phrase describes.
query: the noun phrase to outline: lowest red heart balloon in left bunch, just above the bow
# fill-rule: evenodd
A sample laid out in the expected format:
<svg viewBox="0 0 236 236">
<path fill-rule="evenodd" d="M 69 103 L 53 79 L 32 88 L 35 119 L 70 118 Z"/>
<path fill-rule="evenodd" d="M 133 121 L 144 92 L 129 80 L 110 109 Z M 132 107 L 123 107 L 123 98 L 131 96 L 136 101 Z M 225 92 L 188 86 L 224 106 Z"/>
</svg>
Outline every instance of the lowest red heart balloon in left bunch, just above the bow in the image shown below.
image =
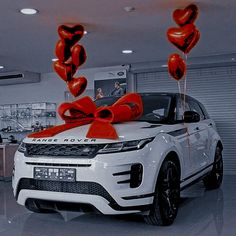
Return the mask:
<svg viewBox="0 0 236 236">
<path fill-rule="evenodd" d="M 67 86 L 68 86 L 70 93 L 74 97 L 78 97 L 86 89 L 87 79 L 83 76 L 78 77 L 78 78 L 73 78 L 71 81 L 69 81 L 67 83 Z"/>
</svg>

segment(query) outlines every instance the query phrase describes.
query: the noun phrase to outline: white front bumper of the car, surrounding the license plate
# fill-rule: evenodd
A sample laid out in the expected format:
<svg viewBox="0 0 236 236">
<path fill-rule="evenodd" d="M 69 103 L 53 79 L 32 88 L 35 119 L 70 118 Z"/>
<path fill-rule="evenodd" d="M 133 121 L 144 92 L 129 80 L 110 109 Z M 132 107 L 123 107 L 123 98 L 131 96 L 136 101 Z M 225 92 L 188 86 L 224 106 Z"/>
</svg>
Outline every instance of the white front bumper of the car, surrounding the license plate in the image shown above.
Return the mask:
<svg viewBox="0 0 236 236">
<path fill-rule="evenodd" d="M 29 158 L 17 152 L 13 189 L 17 202 L 27 199 L 90 204 L 103 214 L 125 214 L 146 211 L 153 202 L 156 160 L 147 145 L 138 151 L 97 155 L 82 158 Z M 151 164 L 150 164 L 151 163 Z M 141 164 L 142 181 L 130 186 L 131 166 Z M 76 169 L 76 182 L 34 180 L 34 167 Z"/>
</svg>

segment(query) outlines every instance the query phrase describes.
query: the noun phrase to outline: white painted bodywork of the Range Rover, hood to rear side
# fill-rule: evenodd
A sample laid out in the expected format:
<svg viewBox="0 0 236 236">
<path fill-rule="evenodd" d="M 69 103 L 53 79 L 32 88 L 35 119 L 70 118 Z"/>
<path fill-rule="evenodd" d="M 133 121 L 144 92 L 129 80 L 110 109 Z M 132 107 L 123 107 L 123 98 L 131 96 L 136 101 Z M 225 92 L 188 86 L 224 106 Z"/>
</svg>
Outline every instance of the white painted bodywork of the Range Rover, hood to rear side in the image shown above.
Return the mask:
<svg viewBox="0 0 236 236">
<path fill-rule="evenodd" d="M 104 214 L 126 214 L 140 212 L 131 207 L 150 205 L 153 203 L 156 180 L 161 165 L 170 152 L 177 154 L 181 169 L 181 188 L 198 179 L 212 168 L 215 148 L 220 137 L 215 131 L 214 122 L 206 119 L 198 123 L 180 123 L 171 125 L 151 124 L 132 121 L 114 124 L 118 140 L 88 139 L 86 134 L 89 125 L 73 128 L 49 138 L 25 138 L 29 144 L 108 144 L 146 138 L 154 140 L 140 150 L 116 153 L 97 154 L 94 158 L 68 157 L 26 157 L 19 151 L 15 154 L 15 171 L 13 177 L 14 195 L 17 202 L 25 205 L 28 198 L 61 201 L 71 203 L 87 203 Z M 53 192 L 22 189 L 17 192 L 22 178 L 34 178 L 34 167 L 60 165 L 80 165 L 76 169 L 76 181 L 95 182 L 100 184 L 123 209 L 111 207 L 107 199 L 90 194 Z M 114 173 L 129 171 L 135 163 L 143 166 L 140 186 L 130 188 L 129 183 L 118 184 L 129 178 L 127 175 Z M 83 166 L 84 165 L 84 166 Z M 89 165 L 89 167 L 88 167 Z M 63 167 L 67 168 L 67 167 Z M 69 168 L 69 167 L 68 167 Z M 138 196 L 136 199 L 132 196 Z M 141 197 L 146 196 L 146 197 Z M 131 199 L 127 200 L 124 198 Z M 126 210 L 127 209 L 127 210 Z"/>
</svg>

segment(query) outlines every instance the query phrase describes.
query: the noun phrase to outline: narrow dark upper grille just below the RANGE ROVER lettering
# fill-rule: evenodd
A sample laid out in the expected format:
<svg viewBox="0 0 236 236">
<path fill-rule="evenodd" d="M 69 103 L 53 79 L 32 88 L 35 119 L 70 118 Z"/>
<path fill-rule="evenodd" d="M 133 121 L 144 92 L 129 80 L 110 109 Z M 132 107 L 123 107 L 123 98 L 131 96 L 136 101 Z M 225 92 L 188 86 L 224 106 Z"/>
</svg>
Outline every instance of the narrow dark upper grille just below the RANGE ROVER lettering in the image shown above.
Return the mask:
<svg viewBox="0 0 236 236">
<path fill-rule="evenodd" d="M 104 144 L 26 144 L 25 156 L 93 158 Z"/>
</svg>

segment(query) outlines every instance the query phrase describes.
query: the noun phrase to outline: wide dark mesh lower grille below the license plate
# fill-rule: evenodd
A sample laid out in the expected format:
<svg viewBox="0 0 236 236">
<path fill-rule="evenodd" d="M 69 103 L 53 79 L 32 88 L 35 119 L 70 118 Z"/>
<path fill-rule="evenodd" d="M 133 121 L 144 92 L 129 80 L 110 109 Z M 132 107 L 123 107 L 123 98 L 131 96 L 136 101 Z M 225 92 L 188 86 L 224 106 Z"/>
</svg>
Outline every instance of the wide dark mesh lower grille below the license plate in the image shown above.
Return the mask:
<svg viewBox="0 0 236 236">
<path fill-rule="evenodd" d="M 20 180 L 17 188 L 17 197 L 22 189 L 90 194 L 101 196 L 110 203 L 115 202 L 111 195 L 100 184 L 95 182 L 57 182 L 50 180 L 35 180 L 23 178 Z"/>
</svg>

